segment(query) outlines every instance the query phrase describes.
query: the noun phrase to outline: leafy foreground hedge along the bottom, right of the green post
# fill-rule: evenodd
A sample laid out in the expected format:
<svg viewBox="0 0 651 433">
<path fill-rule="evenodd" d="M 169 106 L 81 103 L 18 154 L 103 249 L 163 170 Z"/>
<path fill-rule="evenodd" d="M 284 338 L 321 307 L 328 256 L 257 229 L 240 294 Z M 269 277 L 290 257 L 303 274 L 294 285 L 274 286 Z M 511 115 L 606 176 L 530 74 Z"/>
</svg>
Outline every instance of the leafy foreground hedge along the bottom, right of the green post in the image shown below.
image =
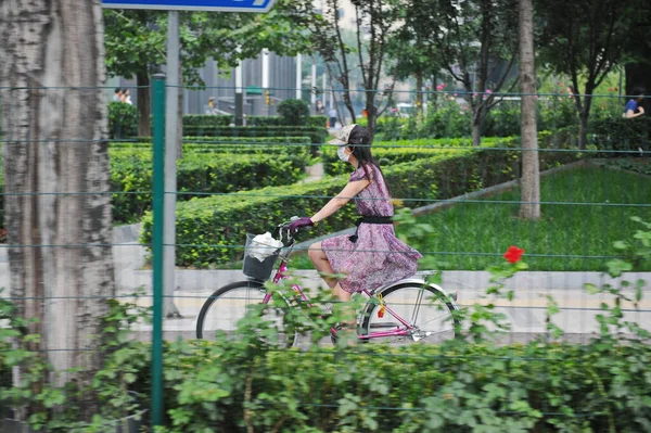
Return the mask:
<svg viewBox="0 0 651 433">
<path fill-rule="evenodd" d="M 639 342 L 258 352 L 232 345 L 168 345 L 164 394 L 174 425 L 166 432 L 638 433 L 651 426 L 651 347 Z"/>
</svg>

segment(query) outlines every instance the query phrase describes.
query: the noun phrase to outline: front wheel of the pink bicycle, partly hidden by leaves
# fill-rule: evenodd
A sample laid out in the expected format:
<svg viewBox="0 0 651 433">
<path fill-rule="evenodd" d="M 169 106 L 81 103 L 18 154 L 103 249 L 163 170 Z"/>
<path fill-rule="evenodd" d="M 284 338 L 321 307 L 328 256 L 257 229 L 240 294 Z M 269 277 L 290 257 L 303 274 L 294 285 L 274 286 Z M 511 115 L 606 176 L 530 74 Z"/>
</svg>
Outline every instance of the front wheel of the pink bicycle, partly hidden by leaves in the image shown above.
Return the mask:
<svg viewBox="0 0 651 433">
<path fill-rule="evenodd" d="M 255 306 L 261 306 L 266 294 L 265 285 L 257 281 L 238 281 L 218 289 L 201 308 L 196 319 L 196 338 L 215 340 L 220 331 L 227 336 L 234 336 L 238 321 Z M 276 338 L 266 339 L 271 344 L 286 347 L 294 344 L 296 335 L 294 332 L 285 332 L 283 322 L 288 308 L 290 306 L 284 298 L 270 301 L 260 307 L 261 319 L 278 331 L 277 341 Z"/>
</svg>

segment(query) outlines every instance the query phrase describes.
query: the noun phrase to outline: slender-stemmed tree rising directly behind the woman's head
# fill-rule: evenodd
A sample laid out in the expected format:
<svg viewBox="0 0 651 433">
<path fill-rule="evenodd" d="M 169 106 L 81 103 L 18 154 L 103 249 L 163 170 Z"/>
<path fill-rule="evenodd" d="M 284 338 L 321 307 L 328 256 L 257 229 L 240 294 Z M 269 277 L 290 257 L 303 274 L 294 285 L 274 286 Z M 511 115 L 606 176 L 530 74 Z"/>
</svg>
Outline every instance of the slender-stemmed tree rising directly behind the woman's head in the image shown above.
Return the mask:
<svg viewBox="0 0 651 433">
<path fill-rule="evenodd" d="M 353 122 L 357 113 L 353 104 L 352 91 L 355 82 L 352 79 L 355 68 L 361 71 L 361 86 L 365 94 L 365 110 L 368 127 L 375 129 L 375 120 L 387 107 L 391 100 L 395 76 L 386 87 L 379 89 L 386 77 L 388 59 L 388 40 L 400 26 L 403 2 L 399 0 L 354 0 L 355 5 L 355 43 L 345 42 L 344 31 L 340 25 L 342 0 L 324 0 L 324 10 L 318 15 L 314 12 L 309 0 L 301 3 L 303 16 L 308 17 L 308 26 L 314 50 L 327 62 L 328 73 L 343 86 L 343 101 Z"/>
</svg>

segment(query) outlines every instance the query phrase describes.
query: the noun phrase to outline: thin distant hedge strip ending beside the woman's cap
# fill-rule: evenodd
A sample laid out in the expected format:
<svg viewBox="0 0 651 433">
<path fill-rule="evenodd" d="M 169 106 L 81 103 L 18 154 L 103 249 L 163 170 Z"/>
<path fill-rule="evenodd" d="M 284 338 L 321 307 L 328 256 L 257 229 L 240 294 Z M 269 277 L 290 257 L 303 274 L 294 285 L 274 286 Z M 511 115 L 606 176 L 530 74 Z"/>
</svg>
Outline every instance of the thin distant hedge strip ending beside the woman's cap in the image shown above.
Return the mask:
<svg viewBox="0 0 651 433">
<path fill-rule="evenodd" d="M 184 136 L 192 137 L 309 137 L 312 144 L 322 144 L 328 137 L 324 127 L 312 126 L 189 126 Z"/>
</svg>

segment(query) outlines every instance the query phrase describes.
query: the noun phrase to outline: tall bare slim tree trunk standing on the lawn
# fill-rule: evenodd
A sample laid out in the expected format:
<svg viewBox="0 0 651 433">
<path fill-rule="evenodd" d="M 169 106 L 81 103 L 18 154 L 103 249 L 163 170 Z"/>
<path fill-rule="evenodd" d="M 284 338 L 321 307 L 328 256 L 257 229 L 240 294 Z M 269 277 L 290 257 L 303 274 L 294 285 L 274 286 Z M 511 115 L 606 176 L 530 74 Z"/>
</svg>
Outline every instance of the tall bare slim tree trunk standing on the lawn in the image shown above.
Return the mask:
<svg viewBox="0 0 651 433">
<path fill-rule="evenodd" d="M 540 173 L 536 125 L 536 67 L 532 0 L 520 0 L 520 82 L 522 86 L 522 218 L 540 217 Z"/>
</svg>

